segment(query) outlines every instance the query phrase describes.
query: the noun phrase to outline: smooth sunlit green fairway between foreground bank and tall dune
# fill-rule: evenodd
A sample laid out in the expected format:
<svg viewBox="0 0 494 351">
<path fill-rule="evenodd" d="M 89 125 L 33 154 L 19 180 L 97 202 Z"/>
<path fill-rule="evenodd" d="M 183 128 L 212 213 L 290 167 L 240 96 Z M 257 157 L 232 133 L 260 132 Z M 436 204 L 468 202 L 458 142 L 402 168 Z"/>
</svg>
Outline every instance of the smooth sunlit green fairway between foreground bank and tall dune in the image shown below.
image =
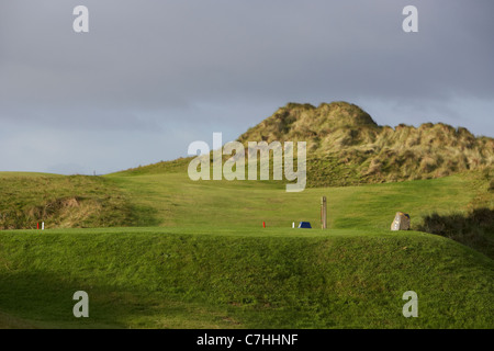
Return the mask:
<svg viewBox="0 0 494 351">
<path fill-rule="evenodd" d="M 139 225 L 291 227 L 308 220 L 319 226 L 321 196 L 328 199 L 332 228 L 389 228 L 398 211 L 412 224 L 433 212 L 465 212 L 487 191 L 471 174 L 361 186 L 315 188 L 288 193 L 274 181 L 198 181 L 187 173 L 109 176 L 131 199 Z M 493 196 L 490 205 L 494 206 Z M 147 222 L 145 222 L 147 220 Z"/>
</svg>

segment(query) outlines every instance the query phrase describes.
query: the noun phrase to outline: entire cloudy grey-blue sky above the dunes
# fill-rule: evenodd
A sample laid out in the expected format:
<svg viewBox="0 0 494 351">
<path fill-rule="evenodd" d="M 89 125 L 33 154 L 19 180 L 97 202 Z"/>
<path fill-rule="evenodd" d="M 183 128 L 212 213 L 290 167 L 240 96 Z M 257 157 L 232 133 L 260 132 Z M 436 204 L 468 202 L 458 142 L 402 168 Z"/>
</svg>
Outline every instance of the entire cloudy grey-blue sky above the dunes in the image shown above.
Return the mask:
<svg viewBox="0 0 494 351">
<path fill-rule="evenodd" d="M 493 13 L 492 0 L 1 0 L 0 171 L 186 157 L 288 102 L 494 137 Z"/>
</svg>

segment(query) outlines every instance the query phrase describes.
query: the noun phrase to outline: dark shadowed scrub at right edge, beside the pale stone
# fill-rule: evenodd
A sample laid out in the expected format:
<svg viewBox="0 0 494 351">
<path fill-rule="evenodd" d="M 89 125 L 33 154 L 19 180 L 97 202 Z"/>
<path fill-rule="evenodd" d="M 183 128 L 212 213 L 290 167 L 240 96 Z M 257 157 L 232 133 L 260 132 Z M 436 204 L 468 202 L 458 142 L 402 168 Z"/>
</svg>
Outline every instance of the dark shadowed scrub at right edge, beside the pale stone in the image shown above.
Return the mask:
<svg viewBox="0 0 494 351">
<path fill-rule="evenodd" d="M 433 214 L 425 217 L 417 229 L 453 239 L 494 259 L 494 210 L 492 208 L 475 208 L 467 215 Z"/>
</svg>

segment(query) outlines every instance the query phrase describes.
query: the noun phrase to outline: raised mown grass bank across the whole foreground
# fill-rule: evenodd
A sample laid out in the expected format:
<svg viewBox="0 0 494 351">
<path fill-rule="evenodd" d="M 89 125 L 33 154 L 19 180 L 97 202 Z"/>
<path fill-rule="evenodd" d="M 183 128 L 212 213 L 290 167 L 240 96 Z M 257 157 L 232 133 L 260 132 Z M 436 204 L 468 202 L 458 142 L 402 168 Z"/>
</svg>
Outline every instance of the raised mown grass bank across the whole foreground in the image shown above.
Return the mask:
<svg viewBox="0 0 494 351">
<path fill-rule="evenodd" d="M 0 253 L 0 309 L 37 328 L 494 327 L 494 262 L 415 231 L 16 230 Z M 72 316 L 79 290 L 89 318 Z"/>
</svg>

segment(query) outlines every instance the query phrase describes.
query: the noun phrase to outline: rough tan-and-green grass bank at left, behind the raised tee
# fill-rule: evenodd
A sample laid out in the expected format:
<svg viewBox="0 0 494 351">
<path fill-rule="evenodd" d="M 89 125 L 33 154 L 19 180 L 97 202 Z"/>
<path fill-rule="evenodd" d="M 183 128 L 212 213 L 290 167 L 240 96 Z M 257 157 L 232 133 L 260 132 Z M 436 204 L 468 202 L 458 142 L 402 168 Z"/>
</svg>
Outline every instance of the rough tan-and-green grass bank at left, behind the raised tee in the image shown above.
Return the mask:
<svg viewBox="0 0 494 351">
<path fill-rule="evenodd" d="M 102 177 L 0 172 L 0 228 L 130 225 L 132 208 Z"/>
</svg>

